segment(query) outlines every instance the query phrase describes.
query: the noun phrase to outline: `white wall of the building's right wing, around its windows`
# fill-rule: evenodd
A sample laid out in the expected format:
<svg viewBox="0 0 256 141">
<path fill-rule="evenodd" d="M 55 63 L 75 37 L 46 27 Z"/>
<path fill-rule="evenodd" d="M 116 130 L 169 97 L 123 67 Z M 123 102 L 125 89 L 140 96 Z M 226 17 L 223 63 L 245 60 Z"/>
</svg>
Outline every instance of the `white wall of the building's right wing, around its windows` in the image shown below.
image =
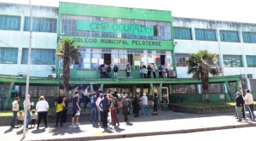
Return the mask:
<svg viewBox="0 0 256 141">
<path fill-rule="evenodd" d="M 189 18 L 173 17 L 173 27 L 191 28 L 192 40 L 177 40 L 176 54 L 196 54 L 199 50 L 207 50 L 211 53 L 222 55 L 242 55 L 243 67 L 224 66 L 224 76 L 253 74 L 256 76 L 255 67 L 247 67 L 246 55 L 256 55 L 256 43 L 242 41 L 242 31 L 256 32 L 256 24 L 237 23 L 218 20 L 198 20 Z M 195 29 L 211 29 L 216 31 L 218 41 L 195 40 Z M 219 42 L 219 31 L 238 31 L 240 42 Z M 221 58 L 223 59 L 223 58 Z M 223 62 L 223 60 L 219 60 Z M 220 65 L 223 65 L 220 64 Z M 187 75 L 188 67 L 177 66 L 177 77 L 191 77 Z M 249 82 L 249 80 L 247 79 Z M 250 87 L 250 86 L 248 86 Z"/>
</svg>

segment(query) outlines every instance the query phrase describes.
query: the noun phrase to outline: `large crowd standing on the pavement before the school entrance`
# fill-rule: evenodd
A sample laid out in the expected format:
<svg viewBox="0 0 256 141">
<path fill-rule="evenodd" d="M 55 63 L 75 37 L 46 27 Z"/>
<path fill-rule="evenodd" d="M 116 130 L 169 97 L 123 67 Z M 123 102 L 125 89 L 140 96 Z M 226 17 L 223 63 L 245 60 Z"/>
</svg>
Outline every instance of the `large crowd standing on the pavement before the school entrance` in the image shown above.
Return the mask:
<svg viewBox="0 0 256 141">
<path fill-rule="evenodd" d="M 157 93 L 154 93 L 154 112 L 152 115 L 157 115 L 157 104 L 158 97 Z M 15 98 L 13 102 L 13 118 L 10 127 L 15 128 L 15 121 L 18 119 L 18 126 L 21 127 L 24 121 L 23 112 L 19 110 L 20 98 Z M 25 104 L 26 100 L 24 100 Z M 63 123 L 67 122 L 67 110 L 69 110 L 68 104 L 73 103 L 72 107 L 72 125 L 70 127 L 79 127 L 79 116 L 81 115 L 81 104 L 84 103 L 84 110 L 90 110 L 90 122 L 93 125 L 101 125 L 102 127 L 108 127 L 108 124 L 113 126 L 119 126 L 119 110 L 122 111 L 124 120 L 128 121 L 128 115 L 131 115 L 131 107 L 133 108 L 134 117 L 140 115 L 149 116 L 148 112 L 148 96 L 143 93 L 140 97 L 139 93 L 102 93 L 99 88 L 97 92 L 90 93 L 89 87 L 74 87 L 73 88 L 73 98 L 67 99 L 66 96 L 59 96 L 55 99 L 55 127 L 63 127 Z M 90 108 L 87 106 L 90 104 Z M 48 127 L 47 115 L 49 110 L 49 104 L 44 99 L 44 96 L 40 96 L 36 104 L 36 109 L 31 110 L 34 105 L 30 101 L 30 95 L 27 97 L 27 104 L 25 110 L 27 110 L 26 115 L 26 128 L 35 127 L 36 122 L 38 124 L 37 128 L 40 127 L 42 119 L 44 120 L 44 127 Z M 140 112 L 141 111 L 141 112 Z M 19 112 L 19 116 L 17 113 Z M 17 118 L 18 117 L 18 118 Z M 82 117 L 83 118 L 83 117 Z"/>
</svg>

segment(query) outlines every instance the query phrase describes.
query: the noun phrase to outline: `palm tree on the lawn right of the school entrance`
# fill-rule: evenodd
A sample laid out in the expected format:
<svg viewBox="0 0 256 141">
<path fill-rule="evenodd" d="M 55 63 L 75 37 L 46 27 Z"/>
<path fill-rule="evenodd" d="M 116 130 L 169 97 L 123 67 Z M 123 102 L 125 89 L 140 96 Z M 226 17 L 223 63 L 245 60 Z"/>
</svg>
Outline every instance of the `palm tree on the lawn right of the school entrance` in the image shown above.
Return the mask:
<svg viewBox="0 0 256 141">
<path fill-rule="evenodd" d="M 201 80 L 201 86 L 205 94 L 205 102 L 209 102 L 209 74 L 218 76 L 222 72 L 218 68 L 217 62 L 217 55 L 208 53 L 207 50 L 200 50 L 197 54 L 190 54 L 189 57 L 188 74 L 193 74 L 193 78 Z"/>
</svg>

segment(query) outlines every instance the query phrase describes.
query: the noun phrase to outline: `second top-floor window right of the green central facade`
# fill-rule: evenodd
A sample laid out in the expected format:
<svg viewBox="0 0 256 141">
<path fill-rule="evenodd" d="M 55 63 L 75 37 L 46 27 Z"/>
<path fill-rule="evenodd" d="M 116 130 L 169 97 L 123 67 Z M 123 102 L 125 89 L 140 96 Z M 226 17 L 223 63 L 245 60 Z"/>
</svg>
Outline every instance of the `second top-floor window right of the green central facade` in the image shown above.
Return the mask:
<svg viewBox="0 0 256 141">
<path fill-rule="evenodd" d="M 202 41 L 216 41 L 214 30 L 195 29 L 195 39 Z"/>
</svg>

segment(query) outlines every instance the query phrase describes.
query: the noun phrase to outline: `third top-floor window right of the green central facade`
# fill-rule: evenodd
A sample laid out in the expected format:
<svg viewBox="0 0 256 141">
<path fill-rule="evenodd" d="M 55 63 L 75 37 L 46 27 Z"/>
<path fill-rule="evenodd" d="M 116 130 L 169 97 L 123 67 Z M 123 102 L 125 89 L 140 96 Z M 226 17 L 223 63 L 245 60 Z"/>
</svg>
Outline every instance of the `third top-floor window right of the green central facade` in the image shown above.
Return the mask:
<svg viewBox="0 0 256 141">
<path fill-rule="evenodd" d="M 223 42 L 239 42 L 237 31 L 219 31 L 220 40 Z"/>
</svg>

